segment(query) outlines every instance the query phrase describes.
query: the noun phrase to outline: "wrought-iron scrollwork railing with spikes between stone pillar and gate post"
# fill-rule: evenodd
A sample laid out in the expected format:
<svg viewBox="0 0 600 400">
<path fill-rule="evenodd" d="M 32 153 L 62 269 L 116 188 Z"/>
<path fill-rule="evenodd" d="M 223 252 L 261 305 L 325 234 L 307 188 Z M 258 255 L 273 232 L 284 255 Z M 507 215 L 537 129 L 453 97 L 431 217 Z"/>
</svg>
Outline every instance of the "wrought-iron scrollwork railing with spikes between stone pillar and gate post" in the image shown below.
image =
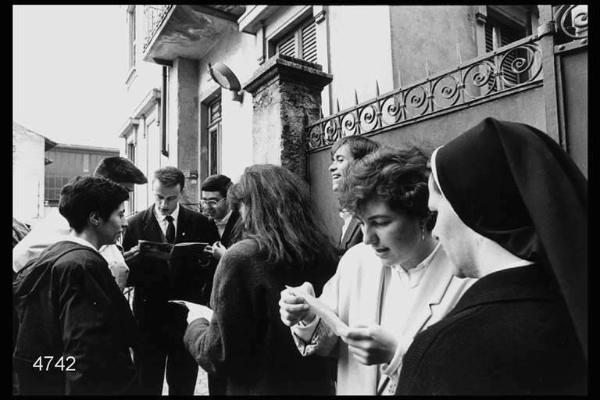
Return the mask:
<svg viewBox="0 0 600 400">
<path fill-rule="evenodd" d="M 396 89 L 307 128 L 308 150 L 348 135 L 392 128 L 542 80 L 539 37 L 532 35 L 486 53 L 449 72 Z"/>
</svg>

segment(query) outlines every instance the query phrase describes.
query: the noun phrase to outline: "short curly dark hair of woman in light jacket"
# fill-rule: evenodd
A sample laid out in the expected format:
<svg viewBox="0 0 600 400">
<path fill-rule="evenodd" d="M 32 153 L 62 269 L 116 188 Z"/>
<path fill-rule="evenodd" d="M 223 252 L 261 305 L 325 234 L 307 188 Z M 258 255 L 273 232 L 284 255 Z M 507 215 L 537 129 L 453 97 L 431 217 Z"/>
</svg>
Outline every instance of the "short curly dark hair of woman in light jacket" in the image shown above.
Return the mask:
<svg viewBox="0 0 600 400">
<path fill-rule="evenodd" d="M 430 168 L 428 157 L 418 147 L 407 150 L 381 147 L 354 163 L 341 191 L 342 205 L 353 213 L 371 200 L 383 200 L 394 211 L 416 218 L 428 230 L 435 216 L 427 207 Z"/>
</svg>

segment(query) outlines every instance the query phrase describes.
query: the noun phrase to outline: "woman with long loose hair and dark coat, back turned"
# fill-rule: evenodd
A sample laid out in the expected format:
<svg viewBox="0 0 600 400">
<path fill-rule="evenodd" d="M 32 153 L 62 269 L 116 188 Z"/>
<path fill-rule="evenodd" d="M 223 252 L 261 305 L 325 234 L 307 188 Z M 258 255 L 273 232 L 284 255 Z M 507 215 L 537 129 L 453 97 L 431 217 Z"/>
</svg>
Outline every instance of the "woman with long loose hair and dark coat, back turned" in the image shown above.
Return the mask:
<svg viewBox="0 0 600 400">
<path fill-rule="evenodd" d="M 254 165 L 227 197 L 240 212 L 242 240 L 217 266 L 210 323 L 190 309 L 187 349 L 208 373 L 226 378 L 228 395 L 333 394 L 328 363 L 302 357 L 279 322 L 284 285 L 309 281 L 320 293 L 336 267 L 306 183 L 283 167 Z"/>
</svg>

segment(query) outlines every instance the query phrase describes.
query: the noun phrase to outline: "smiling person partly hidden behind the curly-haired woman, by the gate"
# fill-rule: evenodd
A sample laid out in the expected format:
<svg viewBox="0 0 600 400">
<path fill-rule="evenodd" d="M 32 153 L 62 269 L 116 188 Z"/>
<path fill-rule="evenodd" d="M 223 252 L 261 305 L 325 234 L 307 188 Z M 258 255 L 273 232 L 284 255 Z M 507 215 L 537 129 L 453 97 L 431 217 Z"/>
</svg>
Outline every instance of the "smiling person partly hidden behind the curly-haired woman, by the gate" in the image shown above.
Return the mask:
<svg viewBox="0 0 600 400">
<path fill-rule="evenodd" d="M 331 146 L 329 172 L 332 189 L 336 194 L 342 189 L 342 182 L 350 165 L 378 148 L 379 143 L 363 136 L 345 136 Z M 363 235 L 360 221 L 355 216 L 346 210 L 341 210 L 340 217 L 344 220 L 338 243 L 338 253 L 342 256 L 350 247 L 362 242 Z"/>
</svg>

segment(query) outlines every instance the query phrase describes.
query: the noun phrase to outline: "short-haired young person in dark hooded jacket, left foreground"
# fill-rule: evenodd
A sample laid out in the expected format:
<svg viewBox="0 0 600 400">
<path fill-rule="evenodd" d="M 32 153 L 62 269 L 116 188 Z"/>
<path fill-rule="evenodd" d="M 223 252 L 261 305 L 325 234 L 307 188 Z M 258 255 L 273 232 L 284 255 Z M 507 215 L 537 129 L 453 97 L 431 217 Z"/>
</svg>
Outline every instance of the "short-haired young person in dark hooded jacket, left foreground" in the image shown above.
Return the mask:
<svg viewBox="0 0 600 400">
<path fill-rule="evenodd" d="M 98 249 L 123 228 L 127 190 L 77 177 L 61 191 L 73 229 L 25 266 L 13 283 L 19 320 L 14 369 L 21 395 L 135 393 L 130 348 L 137 328 Z"/>
</svg>

